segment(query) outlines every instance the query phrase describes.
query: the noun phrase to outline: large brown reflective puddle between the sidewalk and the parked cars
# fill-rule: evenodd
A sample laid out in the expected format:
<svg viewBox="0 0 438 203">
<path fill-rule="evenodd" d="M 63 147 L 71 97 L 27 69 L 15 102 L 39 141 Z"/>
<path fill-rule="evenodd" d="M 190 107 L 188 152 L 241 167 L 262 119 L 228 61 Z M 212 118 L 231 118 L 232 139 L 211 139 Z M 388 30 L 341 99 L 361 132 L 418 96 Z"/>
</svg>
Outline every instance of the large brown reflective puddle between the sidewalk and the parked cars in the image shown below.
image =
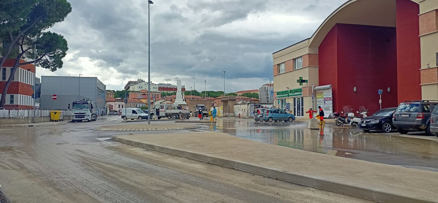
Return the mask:
<svg viewBox="0 0 438 203">
<path fill-rule="evenodd" d="M 298 150 L 391 165 L 434 168 L 433 171 L 438 171 L 438 143 L 430 140 L 354 132 L 336 126 L 309 130 L 307 123 L 269 124 L 220 119 L 209 128 L 211 131 Z"/>
</svg>

